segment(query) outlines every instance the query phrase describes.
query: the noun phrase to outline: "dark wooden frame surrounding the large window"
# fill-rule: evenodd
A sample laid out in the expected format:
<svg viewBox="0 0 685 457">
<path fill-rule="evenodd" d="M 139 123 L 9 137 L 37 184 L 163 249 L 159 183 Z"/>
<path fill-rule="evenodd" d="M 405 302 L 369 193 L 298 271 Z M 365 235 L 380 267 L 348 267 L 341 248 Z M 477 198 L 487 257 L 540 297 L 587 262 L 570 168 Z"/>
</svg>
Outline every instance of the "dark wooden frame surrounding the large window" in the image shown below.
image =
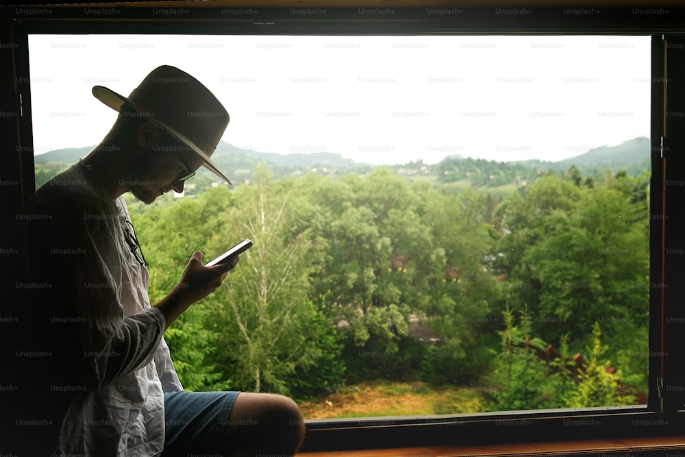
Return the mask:
<svg viewBox="0 0 685 457">
<path fill-rule="evenodd" d="M 22 8 L 48 8 L 51 12 L 22 14 Z M 685 370 L 682 368 L 685 350 L 679 345 L 682 343 L 679 327 L 685 321 L 685 307 L 679 306 L 679 298 L 684 295 L 681 288 L 685 284 L 681 285 L 683 282 L 678 279 L 685 270 L 685 260 L 667 256 L 666 252 L 667 247 L 678 246 L 677 234 L 684 232 L 685 221 L 679 214 L 685 214 L 682 211 L 685 208 L 680 208 L 685 204 L 680 203 L 685 202 L 685 195 L 681 195 L 685 190 L 683 186 L 666 183 L 679 177 L 682 180 L 685 174 L 685 155 L 678 153 L 685 149 L 685 129 L 680 117 L 668 115 L 667 107 L 677 110 L 685 106 L 685 89 L 667 81 L 685 79 L 685 59 L 667 57 L 671 51 L 682 51 L 680 44 L 685 46 L 685 29 L 678 23 L 685 8 L 669 8 L 667 17 L 640 17 L 630 6 L 611 7 L 602 8 L 602 14 L 581 18 L 566 14 L 563 7 L 546 6 L 524 8 L 532 12 L 511 16 L 493 14 L 494 7 L 469 7 L 456 8 L 460 12 L 447 15 L 428 14 L 427 8 L 391 8 L 394 11 L 388 16 L 367 17 L 360 13 L 360 8 L 325 8 L 325 13 L 311 16 L 292 14 L 292 8 L 258 8 L 254 14 L 232 16 L 219 8 L 184 5 L 179 8 L 187 8 L 188 13 L 182 18 L 160 18 L 153 12 L 154 8 L 147 6 L 112 6 L 119 10 L 116 18 L 92 16 L 86 8 L 2 8 L 0 42 L 12 43 L 12 46 L 11 52 L 0 54 L 4 69 L 0 84 L 3 90 L 10 92 L 10 87 L 12 90 L 12 100 L 6 106 L 20 113 L 16 119 L 2 121 L 15 123 L 16 128 L 8 130 L 0 139 L 5 151 L 12 151 L 1 155 L 0 165 L 5 175 L 16 182 L 14 186 L 3 186 L 2 190 L 3 202 L 9 203 L 3 215 L 10 219 L 14 219 L 21 203 L 35 190 L 29 34 L 651 36 L 651 73 L 656 83 L 651 85 L 649 271 L 651 282 L 669 286 L 650 288 L 649 293 L 649 351 L 653 355 L 649 357 L 647 406 L 309 420 L 303 451 L 568 440 L 571 425 L 575 425 L 571 429 L 573 434 L 580 434 L 583 439 L 680 434 L 685 425 Z M 101 4 L 97 8 L 110 7 Z M 679 47 L 669 47 L 669 43 L 677 43 Z M 669 219 L 660 217 L 661 214 L 669 215 Z"/>
</svg>

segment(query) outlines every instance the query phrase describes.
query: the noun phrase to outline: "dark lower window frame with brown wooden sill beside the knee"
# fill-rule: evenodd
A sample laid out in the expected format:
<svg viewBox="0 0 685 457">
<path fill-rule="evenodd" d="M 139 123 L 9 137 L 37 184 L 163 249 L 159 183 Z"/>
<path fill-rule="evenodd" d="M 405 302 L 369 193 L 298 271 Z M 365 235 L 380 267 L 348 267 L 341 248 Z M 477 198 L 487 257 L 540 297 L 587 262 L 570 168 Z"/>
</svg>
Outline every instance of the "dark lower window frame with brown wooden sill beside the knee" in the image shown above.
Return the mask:
<svg viewBox="0 0 685 457">
<path fill-rule="evenodd" d="M 478 417 L 309 421 L 299 456 L 685 456 L 685 411 L 640 406 Z M 573 414 L 575 412 L 575 414 Z M 378 418 L 375 418 L 378 419 Z M 462 420 L 459 420 L 462 419 Z M 677 451 L 673 453 L 673 451 Z"/>
</svg>

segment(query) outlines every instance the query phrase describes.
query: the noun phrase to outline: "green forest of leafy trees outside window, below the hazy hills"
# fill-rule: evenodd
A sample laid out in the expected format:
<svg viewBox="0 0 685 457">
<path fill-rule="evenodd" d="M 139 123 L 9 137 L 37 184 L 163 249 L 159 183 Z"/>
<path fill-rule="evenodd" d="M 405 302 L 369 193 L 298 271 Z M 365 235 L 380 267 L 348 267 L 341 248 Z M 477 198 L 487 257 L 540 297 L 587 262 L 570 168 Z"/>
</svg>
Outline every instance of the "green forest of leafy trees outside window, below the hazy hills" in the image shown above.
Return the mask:
<svg viewBox="0 0 685 457">
<path fill-rule="evenodd" d="M 323 405 L 369 382 L 405 386 L 393 401 L 438 393 L 438 414 L 645 401 L 649 172 L 571 166 L 506 196 L 386 166 L 251 176 L 129 199 L 151 303 L 192 251 L 254 242 L 165 334 L 186 390 L 323 408 L 306 418 L 344 416 Z"/>
</svg>

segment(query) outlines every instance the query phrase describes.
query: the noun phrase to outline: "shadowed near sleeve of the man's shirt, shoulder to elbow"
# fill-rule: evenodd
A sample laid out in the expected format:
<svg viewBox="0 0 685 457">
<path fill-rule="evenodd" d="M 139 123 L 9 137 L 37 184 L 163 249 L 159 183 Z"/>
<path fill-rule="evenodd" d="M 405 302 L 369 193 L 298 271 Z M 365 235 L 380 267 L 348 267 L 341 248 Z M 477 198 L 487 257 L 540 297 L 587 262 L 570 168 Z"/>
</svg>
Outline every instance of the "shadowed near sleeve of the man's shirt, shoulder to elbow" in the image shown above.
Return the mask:
<svg viewBox="0 0 685 457">
<path fill-rule="evenodd" d="M 121 228 L 112 209 L 89 195 L 68 200 L 34 208 L 34 214 L 49 217 L 28 230 L 29 264 L 33 281 L 50 285 L 44 299 L 52 314 L 76 325 L 63 354 L 79 360 L 82 383 L 99 391 L 151 362 L 165 319 L 157 308 L 125 316 Z"/>
</svg>

